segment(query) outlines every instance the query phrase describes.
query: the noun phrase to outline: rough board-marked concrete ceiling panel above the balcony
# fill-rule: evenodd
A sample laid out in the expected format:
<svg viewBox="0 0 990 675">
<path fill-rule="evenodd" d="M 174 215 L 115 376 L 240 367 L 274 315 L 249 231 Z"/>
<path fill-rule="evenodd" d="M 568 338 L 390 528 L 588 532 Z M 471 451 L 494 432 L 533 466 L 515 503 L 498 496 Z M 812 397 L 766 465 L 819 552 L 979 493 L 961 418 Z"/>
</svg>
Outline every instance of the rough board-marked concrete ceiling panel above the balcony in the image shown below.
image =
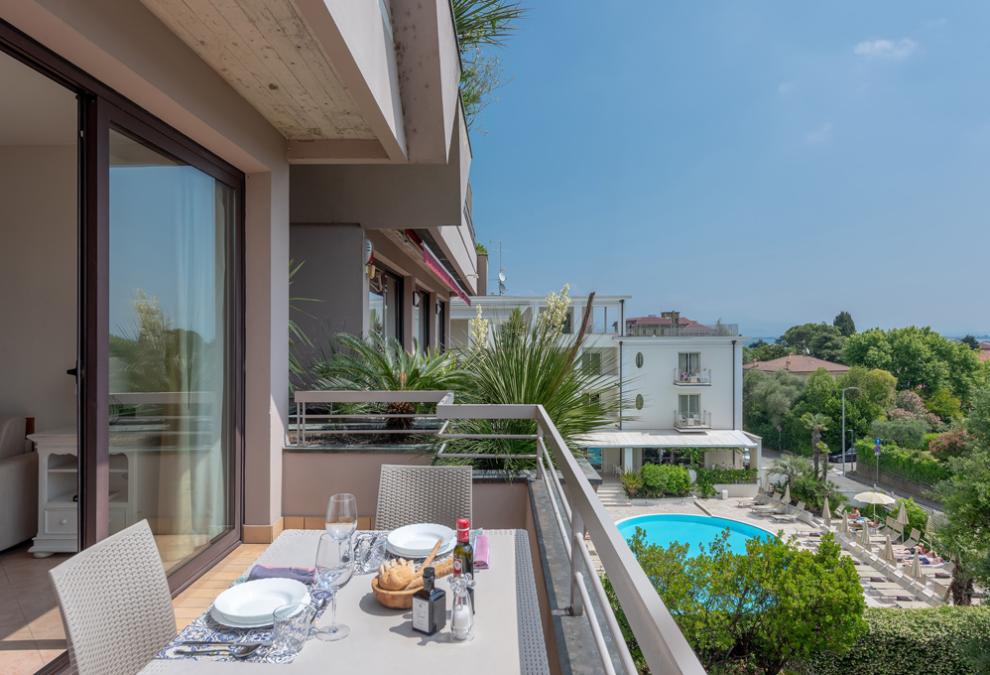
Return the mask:
<svg viewBox="0 0 990 675">
<path fill-rule="evenodd" d="M 287 139 L 376 138 L 291 0 L 141 1 Z"/>
</svg>

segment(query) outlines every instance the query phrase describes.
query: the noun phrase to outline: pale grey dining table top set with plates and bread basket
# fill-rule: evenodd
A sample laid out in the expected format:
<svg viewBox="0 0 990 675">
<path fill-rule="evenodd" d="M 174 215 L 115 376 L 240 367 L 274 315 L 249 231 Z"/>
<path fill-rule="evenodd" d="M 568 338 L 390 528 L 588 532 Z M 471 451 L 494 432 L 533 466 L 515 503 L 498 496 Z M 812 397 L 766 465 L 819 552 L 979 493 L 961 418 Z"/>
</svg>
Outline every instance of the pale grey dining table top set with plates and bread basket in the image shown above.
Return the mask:
<svg viewBox="0 0 990 675">
<path fill-rule="evenodd" d="M 255 565 L 312 567 L 322 530 L 285 530 L 258 557 Z M 343 640 L 309 638 L 290 659 L 272 662 L 264 650 L 235 660 L 228 656 L 176 656 L 176 646 L 192 628 L 180 632 L 141 672 L 190 673 L 437 673 L 472 675 L 549 673 L 547 647 L 533 572 L 529 537 L 525 530 L 485 530 L 489 541 L 489 568 L 476 570 L 473 637 L 456 641 L 450 633 L 453 600 L 447 578 L 437 580 L 446 591 L 447 625 L 434 635 L 412 629 L 410 610 L 383 607 L 371 590 L 375 572 L 358 574 L 337 591 L 337 621 L 350 627 Z M 246 578 L 246 577 L 244 577 Z M 242 578 L 243 579 L 243 578 Z M 235 582 L 237 583 L 237 582 Z M 193 622 L 211 625 L 209 609 Z M 330 612 L 319 615 L 315 627 L 329 625 Z"/>
</svg>

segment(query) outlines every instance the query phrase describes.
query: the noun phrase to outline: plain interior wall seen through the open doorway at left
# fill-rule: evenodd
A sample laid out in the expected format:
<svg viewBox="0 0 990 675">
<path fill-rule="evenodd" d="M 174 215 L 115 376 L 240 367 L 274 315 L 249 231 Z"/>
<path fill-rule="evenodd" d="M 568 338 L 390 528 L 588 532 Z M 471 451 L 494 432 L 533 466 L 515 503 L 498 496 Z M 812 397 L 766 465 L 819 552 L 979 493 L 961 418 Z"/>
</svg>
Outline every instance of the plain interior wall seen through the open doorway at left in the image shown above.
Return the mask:
<svg viewBox="0 0 990 675">
<path fill-rule="evenodd" d="M 38 431 L 71 429 L 76 148 L 0 147 L 0 205 L 0 416 L 33 416 Z"/>
</svg>

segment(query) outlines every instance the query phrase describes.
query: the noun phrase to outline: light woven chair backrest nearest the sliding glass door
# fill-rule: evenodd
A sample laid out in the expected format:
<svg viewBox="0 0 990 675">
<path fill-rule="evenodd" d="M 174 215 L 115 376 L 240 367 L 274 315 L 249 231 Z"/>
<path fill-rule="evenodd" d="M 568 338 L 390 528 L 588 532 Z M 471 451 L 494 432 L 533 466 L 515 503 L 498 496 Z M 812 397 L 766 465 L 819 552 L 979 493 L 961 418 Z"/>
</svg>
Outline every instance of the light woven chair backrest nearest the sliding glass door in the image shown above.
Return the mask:
<svg viewBox="0 0 990 675">
<path fill-rule="evenodd" d="M 69 659 L 81 675 L 136 673 L 175 637 L 172 594 L 146 520 L 48 574 L 62 610 Z"/>
</svg>

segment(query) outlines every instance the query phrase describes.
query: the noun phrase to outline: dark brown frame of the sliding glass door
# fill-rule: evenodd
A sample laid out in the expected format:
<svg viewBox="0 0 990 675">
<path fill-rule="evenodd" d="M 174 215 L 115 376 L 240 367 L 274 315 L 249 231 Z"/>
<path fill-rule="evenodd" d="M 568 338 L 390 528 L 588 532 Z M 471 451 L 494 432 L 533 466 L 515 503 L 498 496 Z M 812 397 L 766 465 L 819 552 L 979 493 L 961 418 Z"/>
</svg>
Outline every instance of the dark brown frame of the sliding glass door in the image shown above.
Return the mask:
<svg viewBox="0 0 990 675">
<path fill-rule="evenodd" d="M 236 219 L 227 233 L 231 289 L 225 414 L 230 445 L 228 513 L 232 529 L 168 575 L 178 593 L 241 541 L 244 503 L 244 174 L 85 71 L 0 19 L 0 52 L 76 93 L 79 100 L 79 548 L 110 531 L 109 453 L 109 183 L 110 129 L 141 139 L 236 192 Z M 52 662 L 57 665 L 61 659 Z"/>
</svg>

